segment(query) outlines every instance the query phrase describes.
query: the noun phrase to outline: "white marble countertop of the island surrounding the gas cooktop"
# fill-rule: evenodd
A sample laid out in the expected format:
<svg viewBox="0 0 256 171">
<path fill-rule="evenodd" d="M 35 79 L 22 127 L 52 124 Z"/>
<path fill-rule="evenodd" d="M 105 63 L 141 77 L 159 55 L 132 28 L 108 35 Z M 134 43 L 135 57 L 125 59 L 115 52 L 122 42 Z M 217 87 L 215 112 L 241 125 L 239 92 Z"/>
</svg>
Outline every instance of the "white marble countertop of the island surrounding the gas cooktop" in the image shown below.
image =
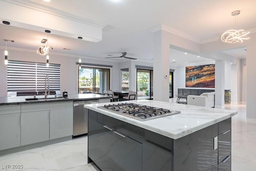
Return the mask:
<svg viewBox="0 0 256 171">
<path fill-rule="evenodd" d="M 137 119 L 133 119 L 124 115 L 98 108 L 98 106 L 103 106 L 105 104 L 117 104 L 121 102 L 138 103 L 141 105 L 162 107 L 165 109 L 178 110 L 181 111 L 181 113 L 148 121 L 139 121 Z M 119 119 L 121 121 L 130 123 L 132 125 L 148 129 L 150 131 L 159 133 L 172 139 L 184 137 L 185 135 L 213 125 L 214 123 L 218 123 L 220 121 L 228 119 L 237 114 L 237 111 L 194 105 L 184 105 L 178 103 L 168 103 L 154 100 L 132 100 L 112 103 L 99 103 L 84 105 L 84 107 L 102 113 L 104 115 Z"/>
</svg>

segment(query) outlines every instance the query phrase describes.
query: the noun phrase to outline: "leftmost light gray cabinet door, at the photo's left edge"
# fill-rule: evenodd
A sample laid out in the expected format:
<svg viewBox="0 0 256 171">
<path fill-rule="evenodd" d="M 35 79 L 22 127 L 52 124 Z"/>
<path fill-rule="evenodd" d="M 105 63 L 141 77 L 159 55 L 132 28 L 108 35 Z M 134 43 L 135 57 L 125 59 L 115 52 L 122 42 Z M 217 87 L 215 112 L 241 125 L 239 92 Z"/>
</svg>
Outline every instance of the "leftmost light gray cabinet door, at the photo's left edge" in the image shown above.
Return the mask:
<svg viewBox="0 0 256 171">
<path fill-rule="evenodd" d="M 0 115 L 0 150 L 20 146 L 20 113 Z"/>
</svg>

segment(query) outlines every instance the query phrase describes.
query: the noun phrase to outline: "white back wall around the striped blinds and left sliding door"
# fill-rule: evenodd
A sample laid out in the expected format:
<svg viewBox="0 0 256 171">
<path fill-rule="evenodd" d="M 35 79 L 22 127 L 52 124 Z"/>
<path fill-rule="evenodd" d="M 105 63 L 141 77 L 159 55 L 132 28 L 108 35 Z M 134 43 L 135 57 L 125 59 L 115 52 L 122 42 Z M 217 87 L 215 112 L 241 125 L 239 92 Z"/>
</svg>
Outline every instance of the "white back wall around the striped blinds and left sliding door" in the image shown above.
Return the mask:
<svg viewBox="0 0 256 171">
<path fill-rule="evenodd" d="M 4 54 L 4 50 L 0 49 L 0 54 Z M 78 62 L 79 58 L 60 56 L 55 54 L 49 54 L 50 63 L 60 64 L 61 75 L 60 75 L 60 87 L 61 92 L 68 91 L 68 94 L 78 93 Z M 5 97 L 7 95 L 7 66 L 4 65 L 4 56 L 0 62 L 0 97 Z M 111 89 L 121 89 L 120 88 L 120 66 L 116 62 L 107 62 L 101 60 L 91 60 L 81 58 L 82 63 L 90 64 L 103 64 L 112 65 L 110 73 L 110 88 Z M 19 60 L 28 62 L 46 62 L 46 56 L 41 56 L 36 54 L 36 52 L 25 52 L 18 50 L 8 50 L 8 60 Z"/>
</svg>

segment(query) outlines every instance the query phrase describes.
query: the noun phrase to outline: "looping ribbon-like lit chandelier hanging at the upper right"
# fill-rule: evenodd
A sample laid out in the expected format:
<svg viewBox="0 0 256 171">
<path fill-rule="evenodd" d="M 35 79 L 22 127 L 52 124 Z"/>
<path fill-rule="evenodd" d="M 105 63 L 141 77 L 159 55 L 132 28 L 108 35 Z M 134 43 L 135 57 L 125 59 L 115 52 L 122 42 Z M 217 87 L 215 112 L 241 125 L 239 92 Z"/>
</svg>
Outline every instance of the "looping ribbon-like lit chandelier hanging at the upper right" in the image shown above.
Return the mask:
<svg viewBox="0 0 256 171">
<path fill-rule="evenodd" d="M 240 14 L 240 11 L 234 11 L 231 13 L 232 16 L 234 16 L 234 27 L 237 26 L 238 22 L 236 22 L 236 16 Z M 241 30 L 228 30 L 224 32 L 221 36 L 221 40 L 226 43 L 242 43 L 243 40 L 248 40 L 250 37 L 246 36 L 250 32 L 244 32 L 243 29 Z"/>
</svg>

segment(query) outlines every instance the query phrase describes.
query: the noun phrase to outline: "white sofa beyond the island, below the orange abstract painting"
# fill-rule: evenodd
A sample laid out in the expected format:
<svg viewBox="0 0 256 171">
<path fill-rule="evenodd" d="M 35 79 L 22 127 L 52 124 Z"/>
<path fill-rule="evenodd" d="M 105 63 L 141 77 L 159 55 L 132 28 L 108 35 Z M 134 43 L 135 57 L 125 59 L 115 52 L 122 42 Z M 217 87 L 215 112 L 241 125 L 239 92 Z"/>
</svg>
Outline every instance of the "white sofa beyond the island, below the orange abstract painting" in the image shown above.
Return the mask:
<svg viewBox="0 0 256 171">
<path fill-rule="evenodd" d="M 201 95 L 188 95 L 188 105 L 214 107 L 215 92 L 202 93 Z"/>
</svg>

